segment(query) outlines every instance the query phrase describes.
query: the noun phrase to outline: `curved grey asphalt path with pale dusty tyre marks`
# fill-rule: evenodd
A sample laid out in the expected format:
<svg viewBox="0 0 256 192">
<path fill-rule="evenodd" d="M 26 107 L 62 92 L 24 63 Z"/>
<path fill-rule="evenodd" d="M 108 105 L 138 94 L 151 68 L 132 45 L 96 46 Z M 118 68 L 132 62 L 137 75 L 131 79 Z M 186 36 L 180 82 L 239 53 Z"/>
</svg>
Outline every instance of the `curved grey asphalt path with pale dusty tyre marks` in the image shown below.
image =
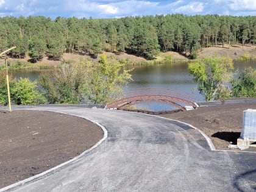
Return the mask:
<svg viewBox="0 0 256 192">
<path fill-rule="evenodd" d="M 212 151 L 185 124 L 116 110 L 27 109 L 92 119 L 108 137 L 82 157 L 10 191 L 256 191 L 255 153 Z"/>
</svg>

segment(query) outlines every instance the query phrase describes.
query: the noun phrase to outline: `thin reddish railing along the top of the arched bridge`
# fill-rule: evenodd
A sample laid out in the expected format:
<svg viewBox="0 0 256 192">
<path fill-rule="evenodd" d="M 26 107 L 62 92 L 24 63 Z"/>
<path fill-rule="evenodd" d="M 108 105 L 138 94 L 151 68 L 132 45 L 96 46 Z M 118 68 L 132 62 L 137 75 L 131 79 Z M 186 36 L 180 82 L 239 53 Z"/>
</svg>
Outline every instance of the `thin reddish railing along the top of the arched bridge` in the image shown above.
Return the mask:
<svg viewBox="0 0 256 192">
<path fill-rule="evenodd" d="M 184 99 L 186 101 L 196 102 L 196 96 L 193 96 L 193 94 L 166 88 L 136 88 L 124 93 L 124 98 L 143 95 L 171 96 L 174 98 Z"/>
</svg>

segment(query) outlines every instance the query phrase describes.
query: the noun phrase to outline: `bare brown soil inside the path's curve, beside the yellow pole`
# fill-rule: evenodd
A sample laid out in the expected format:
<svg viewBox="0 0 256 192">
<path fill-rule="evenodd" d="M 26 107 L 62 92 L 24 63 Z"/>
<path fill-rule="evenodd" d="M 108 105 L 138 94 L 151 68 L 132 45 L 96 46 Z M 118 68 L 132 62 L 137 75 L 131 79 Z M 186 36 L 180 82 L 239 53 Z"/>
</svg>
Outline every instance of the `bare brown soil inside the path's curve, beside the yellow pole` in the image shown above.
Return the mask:
<svg viewBox="0 0 256 192">
<path fill-rule="evenodd" d="M 76 157 L 103 137 L 96 124 L 54 112 L 0 110 L 0 188 Z"/>
</svg>

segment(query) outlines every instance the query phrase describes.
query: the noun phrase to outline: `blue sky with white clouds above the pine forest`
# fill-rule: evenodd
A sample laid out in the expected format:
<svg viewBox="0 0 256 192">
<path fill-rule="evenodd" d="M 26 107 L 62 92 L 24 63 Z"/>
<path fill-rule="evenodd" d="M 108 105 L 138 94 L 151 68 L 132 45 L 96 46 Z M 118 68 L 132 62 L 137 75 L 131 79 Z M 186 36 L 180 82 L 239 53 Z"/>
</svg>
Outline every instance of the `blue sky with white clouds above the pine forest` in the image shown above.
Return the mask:
<svg viewBox="0 0 256 192">
<path fill-rule="evenodd" d="M 172 13 L 256 16 L 256 0 L 0 0 L 0 16 L 120 18 Z"/>
</svg>

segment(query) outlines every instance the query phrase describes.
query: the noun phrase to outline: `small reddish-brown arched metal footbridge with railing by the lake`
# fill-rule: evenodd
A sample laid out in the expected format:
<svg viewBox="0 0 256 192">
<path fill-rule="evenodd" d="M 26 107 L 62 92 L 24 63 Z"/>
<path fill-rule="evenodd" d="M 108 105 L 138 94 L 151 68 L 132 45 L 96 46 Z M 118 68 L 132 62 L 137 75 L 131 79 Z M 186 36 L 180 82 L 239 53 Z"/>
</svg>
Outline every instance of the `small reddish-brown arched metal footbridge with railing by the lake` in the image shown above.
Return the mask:
<svg viewBox="0 0 256 192">
<path fill-rule="evenodd" d="M 191 94 L 165 88 L 140 88 L 129 91 L 122 99 L 107 104 L 105 108 L 125 110 L 143 102 L 162 102 L 181 110 L 185 110 L 185 106 L 197 107 L 196 97 Z"/>
</svg>

